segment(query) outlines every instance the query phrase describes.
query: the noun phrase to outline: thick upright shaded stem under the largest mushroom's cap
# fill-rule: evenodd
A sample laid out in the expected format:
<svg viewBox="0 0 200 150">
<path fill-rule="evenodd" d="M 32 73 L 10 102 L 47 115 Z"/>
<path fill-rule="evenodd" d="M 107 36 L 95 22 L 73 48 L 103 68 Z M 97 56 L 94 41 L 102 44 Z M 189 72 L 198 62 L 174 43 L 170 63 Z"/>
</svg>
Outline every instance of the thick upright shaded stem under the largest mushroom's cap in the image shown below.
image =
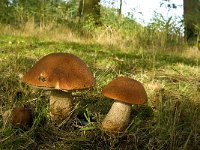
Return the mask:
<svg viewBox="0 0 200 150">
<path fill-rule="evenodd" d="M 72 110 L 72 94 L 53 90 L 50 95 L 50 116 L 52 120 L 64 120 Z"/>
</svg>

